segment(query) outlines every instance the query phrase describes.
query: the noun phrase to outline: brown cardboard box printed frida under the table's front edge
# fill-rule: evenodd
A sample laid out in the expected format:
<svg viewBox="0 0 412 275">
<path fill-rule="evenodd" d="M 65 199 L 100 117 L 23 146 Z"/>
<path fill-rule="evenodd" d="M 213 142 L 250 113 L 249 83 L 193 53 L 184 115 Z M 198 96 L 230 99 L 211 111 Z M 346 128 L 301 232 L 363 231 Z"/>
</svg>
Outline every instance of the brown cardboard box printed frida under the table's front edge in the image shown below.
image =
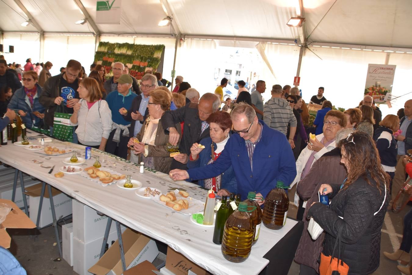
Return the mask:
<svg viewBox="0 0 412 275">
<path fill-rule="evenodd" d="M 190 272 L 196 275 L 209 274 L 206 270 L 170 247 L 167 247 L 166 268 L 176 275 L 188 275 Z"/>
</svg>

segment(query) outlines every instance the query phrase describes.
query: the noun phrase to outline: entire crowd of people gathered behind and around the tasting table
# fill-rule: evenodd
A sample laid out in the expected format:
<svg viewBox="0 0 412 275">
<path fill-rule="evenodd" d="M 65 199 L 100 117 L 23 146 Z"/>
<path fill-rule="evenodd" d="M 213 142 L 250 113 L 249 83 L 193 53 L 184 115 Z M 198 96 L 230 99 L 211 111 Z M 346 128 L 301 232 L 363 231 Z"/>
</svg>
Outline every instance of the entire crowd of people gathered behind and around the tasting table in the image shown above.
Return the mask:
<svg viewBox="0 0 412 275">
<path fill-rule="evenodd" d="M 246 199 L 254 191 L 262 207 L 277 181 L 296 185 L 297 219 L 305 226 L 295 255 L 300 274 L 318 273 L 321 254 L 332 254 L 338 234 L 349 274 L 370 274 L 379 266 L 383 219 L 399 207 L 395 197 L 412 149 L 412 100 L 402 115 L 382 119 L 371 96 L 341 112 L 319 87 L 309 102 L 319 108 L 310 128 L 307 104 L 290 85 L 273 85 L 264 102 L 264 80 L 251 93 L 241 80 L 236 98 L 224 99 L 226 78 L 214 93 L 200 96 L 180 75 L 171 91 L 160 73 L 148 70 L 138 81 L 119 62 L 112 64 L 112 76 L 100 64 L 87 75 L 73 59 L 59 75 L 50 75 L 52 66 L 27 59 L 20 72 L 18 64 L 0 59 L 0 127 L 19 115 L 26 127 L 53 135 L 54 113 L 71 114 L 75 143 L 144 162 L 220 196 Z M 170 148 L 178 150 L 173 157 Z M 329 196 L 329 206 L 318 202 L 318 192 Z M 310 217 L 325 230 L 316 242 L 306 230 Z M 389 257 L 406 261 L 403 252 L 411 244 L 408 239 Z"/>
</svg>

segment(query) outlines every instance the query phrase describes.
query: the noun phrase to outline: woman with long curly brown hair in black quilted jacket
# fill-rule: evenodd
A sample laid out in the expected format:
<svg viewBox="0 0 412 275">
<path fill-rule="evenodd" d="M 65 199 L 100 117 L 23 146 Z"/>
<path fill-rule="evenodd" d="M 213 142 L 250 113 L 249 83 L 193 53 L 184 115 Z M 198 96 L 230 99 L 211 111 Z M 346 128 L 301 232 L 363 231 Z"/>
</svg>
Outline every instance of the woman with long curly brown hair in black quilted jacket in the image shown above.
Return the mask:
<svg viewBox="0 0 412 275">
<path fill-rule="evenodd" d="M 339 147 L 348 177 L 343 183 L 322 184 L 319 191 L 333 198 L 330 208 L 314 202 L 307 215 L 326 232 L 322 251 L 325 256 L 332 254 L 342 228 L 341 259 L 349 266 L 349 274 L 370 274 L 379 266 L 389 176 L 383 171 L 375 142 L 368 134 L 351 133 L 339 142 Z"/>
</svg>

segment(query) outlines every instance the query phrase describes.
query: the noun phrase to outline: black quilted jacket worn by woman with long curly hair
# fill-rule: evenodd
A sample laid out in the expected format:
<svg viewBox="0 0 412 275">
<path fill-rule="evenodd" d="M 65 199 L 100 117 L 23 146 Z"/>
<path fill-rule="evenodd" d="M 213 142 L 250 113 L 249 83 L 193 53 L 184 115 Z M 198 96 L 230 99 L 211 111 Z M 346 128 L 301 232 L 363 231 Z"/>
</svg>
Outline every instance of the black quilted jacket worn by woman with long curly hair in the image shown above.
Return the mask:
<svg viewBox="0 0 412 275">
<path fill-rule="evenodd" d="M 374 184 L 370 176 L 368 179 Z M 333 200 L 330 208 L 317 202 L 309 208 L 307 216 L 312 216 L 326 232 L 323 254 L 332 254 L 336 236 L 343 227 L 342 260 L 349 266 L 349 275 L 370 274 L 379 266 L 381 228 L 388 207 L 389 191 L 386 191 L 385 197 L 383 183 L 379 193 L 363 177 L 348 188 L 340 190 L 340 185 L 331 184 L 333 192 L 329 197 Z M 374 216 L 375 212 L 377 214 Z"/>
</svg>

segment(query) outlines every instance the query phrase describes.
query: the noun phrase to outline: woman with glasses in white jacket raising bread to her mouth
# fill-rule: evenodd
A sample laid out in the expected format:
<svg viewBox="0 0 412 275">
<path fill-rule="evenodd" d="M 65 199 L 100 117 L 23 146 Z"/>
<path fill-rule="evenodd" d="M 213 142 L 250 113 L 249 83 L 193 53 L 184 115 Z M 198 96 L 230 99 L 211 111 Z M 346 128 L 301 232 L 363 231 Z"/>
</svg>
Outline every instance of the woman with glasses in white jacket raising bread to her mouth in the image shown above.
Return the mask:
<svg viewBox="0 0 412 275">
<path fill-rule="evenodd" d="M 302 150 L 296 161 L 296 178 L 292 181 L 292 186 L 309 173 L 313 163 L 323 154 L 336 147 L 336 133 L 346 126 L 345 115 L 338 110 L 330 110 L 323 120 L 323 133 L 318 134 L 315 139 L 309 139 L 308 145 Z M 306 203 L 295 194 L 295 205 L 299 205 L 297 219 L 302 220 Z"/>
</svg>

